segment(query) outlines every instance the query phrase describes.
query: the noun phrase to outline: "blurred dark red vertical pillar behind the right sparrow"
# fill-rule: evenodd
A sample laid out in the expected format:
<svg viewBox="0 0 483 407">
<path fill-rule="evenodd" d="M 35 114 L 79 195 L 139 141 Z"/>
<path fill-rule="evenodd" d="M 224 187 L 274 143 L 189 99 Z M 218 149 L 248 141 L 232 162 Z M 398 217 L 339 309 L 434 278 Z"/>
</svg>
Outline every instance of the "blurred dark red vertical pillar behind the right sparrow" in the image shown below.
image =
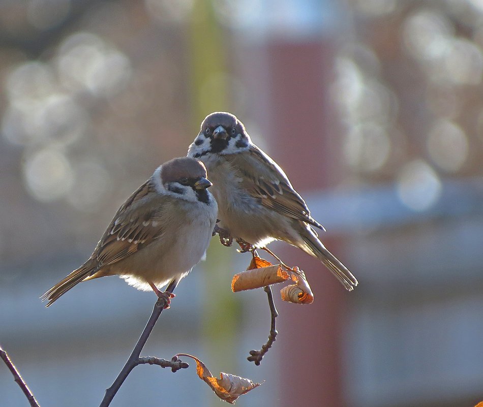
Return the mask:
<svg viewBox="0 0 483 407">
<path fill-rule="evenodd" d="M 338 132 L 327 105 L 333 47 L 321 30 L 296 39 L 283 30 L 282 35 L 265 33 L 262 45 L 251 44 L 243 58 L 248 89 L 256 98 L 250 96 L 251 107 L 256 107 L 250 113 L 268 139 L 268 153 L 303 196 L 332 185 L 341 170 L 340 152 L 333 148 L 339 144 L 334 140 Z M 322 224 L 324 216 L 318 216 Z M 340 252 L 337 242 L 323 241 L 334 253 Z M 279 405 L 342 407 L 341 337 L 344 301 L 350 294 L 320 262 L 299 249 L 286 244 L 282 249 L 281 244 L 277 253 L 306 271 L 315 294 L 311 305 L 278 305 Z"/>
</svg>

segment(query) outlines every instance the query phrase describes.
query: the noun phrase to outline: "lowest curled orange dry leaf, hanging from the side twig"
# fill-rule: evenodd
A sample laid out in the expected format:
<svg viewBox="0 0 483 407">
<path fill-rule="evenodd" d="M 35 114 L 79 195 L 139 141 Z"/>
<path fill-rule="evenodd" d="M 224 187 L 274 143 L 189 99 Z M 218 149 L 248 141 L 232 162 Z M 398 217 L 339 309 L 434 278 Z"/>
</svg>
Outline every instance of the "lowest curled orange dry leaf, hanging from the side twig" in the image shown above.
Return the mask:
<svg viewBox="0 0 483 407">
<path fill-rule="evenodd" d="M 250 390 L 261 385 L 261 383 L 253 383 L 250 379 L 240 378 L 229 373 L 220 373 L 220 379 L 213 377 L 212 372 L 197 357 L 186 353 L 178 353 L 176 356 L 186 356 L 193 358 L 196 362 L 196 372 L 201 380 L 203 380 L 215 394 L 222 400 L 231 404 L 242 394 L 248 393 Z"/>
</svg>

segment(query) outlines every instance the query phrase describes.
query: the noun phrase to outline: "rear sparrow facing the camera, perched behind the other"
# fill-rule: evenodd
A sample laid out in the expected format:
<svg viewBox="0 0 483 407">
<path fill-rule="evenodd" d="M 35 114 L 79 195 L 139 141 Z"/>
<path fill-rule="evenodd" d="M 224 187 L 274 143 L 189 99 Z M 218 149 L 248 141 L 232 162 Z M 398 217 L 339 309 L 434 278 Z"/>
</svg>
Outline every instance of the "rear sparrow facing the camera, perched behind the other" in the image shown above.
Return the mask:
<svg viewBox="0 0 483 407">
<path fill-rule="evenodd" d="M 287 175 L 252 143 L 235 115 L 208 114 L 187 156 L 206 166 L 214 183 L 219 226 L 232 238 L 253 248 L 285 241 L 319 259 L 348 291 L 357 286 L 357 279 L 318 238 L 315 228 L 325 229 L 311 216 Z"/>
</svg>

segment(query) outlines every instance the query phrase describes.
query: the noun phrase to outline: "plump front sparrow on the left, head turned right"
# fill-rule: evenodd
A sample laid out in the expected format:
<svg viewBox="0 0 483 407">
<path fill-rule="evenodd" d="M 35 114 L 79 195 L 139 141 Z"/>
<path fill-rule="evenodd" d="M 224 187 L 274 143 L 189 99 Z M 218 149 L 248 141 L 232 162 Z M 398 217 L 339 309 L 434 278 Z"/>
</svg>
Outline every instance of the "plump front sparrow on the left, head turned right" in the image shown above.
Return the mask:
<svg viewBox="0 0 483 407">
<path fill-rule="evenodd" d="M 81 281 L 119 275 L 153 291 L 169 308 L 176 287 L 205 256 L 217 221 L 217 202 L 198 160 L 182 157 L 159 166 L 117 210 L 93 254 L 41 296 L 46 307 Z"/>
</svg>

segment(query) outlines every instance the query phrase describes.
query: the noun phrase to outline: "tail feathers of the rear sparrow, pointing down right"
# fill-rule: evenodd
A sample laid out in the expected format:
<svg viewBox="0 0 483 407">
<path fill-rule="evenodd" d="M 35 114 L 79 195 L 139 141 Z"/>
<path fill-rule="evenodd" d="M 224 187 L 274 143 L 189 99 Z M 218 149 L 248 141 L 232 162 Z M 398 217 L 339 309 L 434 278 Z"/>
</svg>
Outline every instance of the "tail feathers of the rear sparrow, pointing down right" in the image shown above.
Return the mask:
<svg viewBox="0 0 483 407">
<path fill-rule="evenodd" d="M 346 290 L 352 291 L 359 284 L 347 267 L 330 253 L 317 237 L 310 233 L 302 238 L 305 244 L 301 246 L 301 249 L 319 259 L 336 276 Z"/>
</svg>

